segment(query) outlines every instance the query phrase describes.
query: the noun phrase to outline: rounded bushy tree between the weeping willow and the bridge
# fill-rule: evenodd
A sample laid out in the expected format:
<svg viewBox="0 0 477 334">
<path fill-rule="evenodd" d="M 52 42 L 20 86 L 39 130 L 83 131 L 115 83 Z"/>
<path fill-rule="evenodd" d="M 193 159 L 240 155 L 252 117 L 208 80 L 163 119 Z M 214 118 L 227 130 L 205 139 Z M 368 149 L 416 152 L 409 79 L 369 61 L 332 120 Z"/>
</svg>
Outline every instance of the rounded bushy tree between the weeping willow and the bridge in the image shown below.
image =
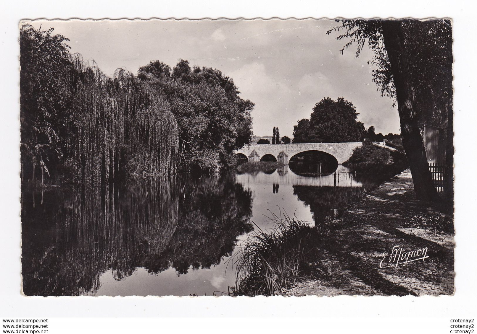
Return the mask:
<svg viewBox="0 0 477 334">
<path fill-rule="evenodd" d="M 212 68 L 172 69 L 160 61 L 141 67 L 138 77 L 160 91 L 179 125 L 183 170 L 215 173 L 234 163 L 233 150 L 249 144 L 254 104 L 239 97 L 232 79 Z"/>
</svg>

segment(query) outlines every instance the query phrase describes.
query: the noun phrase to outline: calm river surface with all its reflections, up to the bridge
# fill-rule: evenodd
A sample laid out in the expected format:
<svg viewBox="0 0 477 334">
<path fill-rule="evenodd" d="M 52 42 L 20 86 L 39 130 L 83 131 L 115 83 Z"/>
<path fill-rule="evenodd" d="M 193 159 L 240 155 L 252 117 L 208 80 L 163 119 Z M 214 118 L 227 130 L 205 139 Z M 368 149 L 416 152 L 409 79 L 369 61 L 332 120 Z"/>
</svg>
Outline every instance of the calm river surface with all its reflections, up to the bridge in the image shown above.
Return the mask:
<svg viewBox="0 0 477 334">
<path fill-rule="evenodd" d="M 321 224 L 373 182 L 270 173 L 22 192 L 25 295 L 216 295 L 235 285 L 240 246 L 268 217 Z"/>
</svg>

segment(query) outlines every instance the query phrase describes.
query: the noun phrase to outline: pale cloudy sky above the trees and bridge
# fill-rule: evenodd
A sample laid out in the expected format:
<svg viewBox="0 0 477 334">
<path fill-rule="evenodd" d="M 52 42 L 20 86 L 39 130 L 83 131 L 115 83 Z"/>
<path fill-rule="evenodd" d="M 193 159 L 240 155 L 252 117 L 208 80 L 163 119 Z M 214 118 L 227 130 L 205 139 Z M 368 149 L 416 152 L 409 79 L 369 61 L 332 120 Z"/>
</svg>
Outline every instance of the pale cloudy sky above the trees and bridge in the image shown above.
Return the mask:
<svg viewBox="0 0 477 334">
<path fill-rule="evenodd" d="M 174 67 L 178 59 L 216 68 L 232 78 L 242 98 L 255 103 L 253 130 L 292 138 L 293 125 L 309 118 L 324 97 L 351 101 L 365 127 L 399 133 L 397 108 L 382 98 L 372 82 L 372 53 L 358 59 L 355 49 L 340 53 L 344 42 L 326 31 L 332 20 L 149 20 L 45 21 L 35 28 L 53 27 L 70 39 L 72 52 L 94 59 L 107 75 L 117 68 L 137 73 L 159 59 Z"/>
</svg>

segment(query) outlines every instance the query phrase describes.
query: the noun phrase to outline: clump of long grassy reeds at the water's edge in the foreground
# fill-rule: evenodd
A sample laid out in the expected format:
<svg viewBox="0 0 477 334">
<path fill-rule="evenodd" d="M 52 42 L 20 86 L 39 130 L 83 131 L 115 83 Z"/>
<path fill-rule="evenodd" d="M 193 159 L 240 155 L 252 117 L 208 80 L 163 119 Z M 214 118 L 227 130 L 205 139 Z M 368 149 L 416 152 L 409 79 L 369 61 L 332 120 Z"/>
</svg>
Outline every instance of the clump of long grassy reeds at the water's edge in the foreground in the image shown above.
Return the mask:
<svg viewBox="0 0 477 334">
<path fill-rule="evenodd" d="M 316 231 L 308 223 L 281 212 L 269 219 L 276 224 L 270 233 L 259 229 L 242 248 L 233 295 L 279 295 L 297 282 L 316 248 Z"/>
</svg>

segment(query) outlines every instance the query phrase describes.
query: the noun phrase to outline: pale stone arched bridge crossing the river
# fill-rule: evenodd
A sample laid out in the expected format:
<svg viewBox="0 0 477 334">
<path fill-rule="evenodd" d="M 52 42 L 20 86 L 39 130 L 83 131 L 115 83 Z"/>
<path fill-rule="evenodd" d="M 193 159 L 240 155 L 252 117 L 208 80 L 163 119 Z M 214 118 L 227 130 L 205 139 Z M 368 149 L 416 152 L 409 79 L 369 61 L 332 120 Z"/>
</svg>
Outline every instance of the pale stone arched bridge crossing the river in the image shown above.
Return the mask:
<svg viewBox="0 0 477 334">
<path fill-rule="evenodd" d="M 243 154 L 249 162 L 257 162 L 266 155 L 272 155 L 277 161 L 288 164 L 288 161 L 295 155 L 305 151 L 321 151 L 336 158 L 338 164 L 342 164 L 351 157 L 353 149 L 360 147 L 359 143 L 306 143 L 306 144 L 262 144 L 249 145 L 235 151 L 236 154 Z"/>
</svg>

